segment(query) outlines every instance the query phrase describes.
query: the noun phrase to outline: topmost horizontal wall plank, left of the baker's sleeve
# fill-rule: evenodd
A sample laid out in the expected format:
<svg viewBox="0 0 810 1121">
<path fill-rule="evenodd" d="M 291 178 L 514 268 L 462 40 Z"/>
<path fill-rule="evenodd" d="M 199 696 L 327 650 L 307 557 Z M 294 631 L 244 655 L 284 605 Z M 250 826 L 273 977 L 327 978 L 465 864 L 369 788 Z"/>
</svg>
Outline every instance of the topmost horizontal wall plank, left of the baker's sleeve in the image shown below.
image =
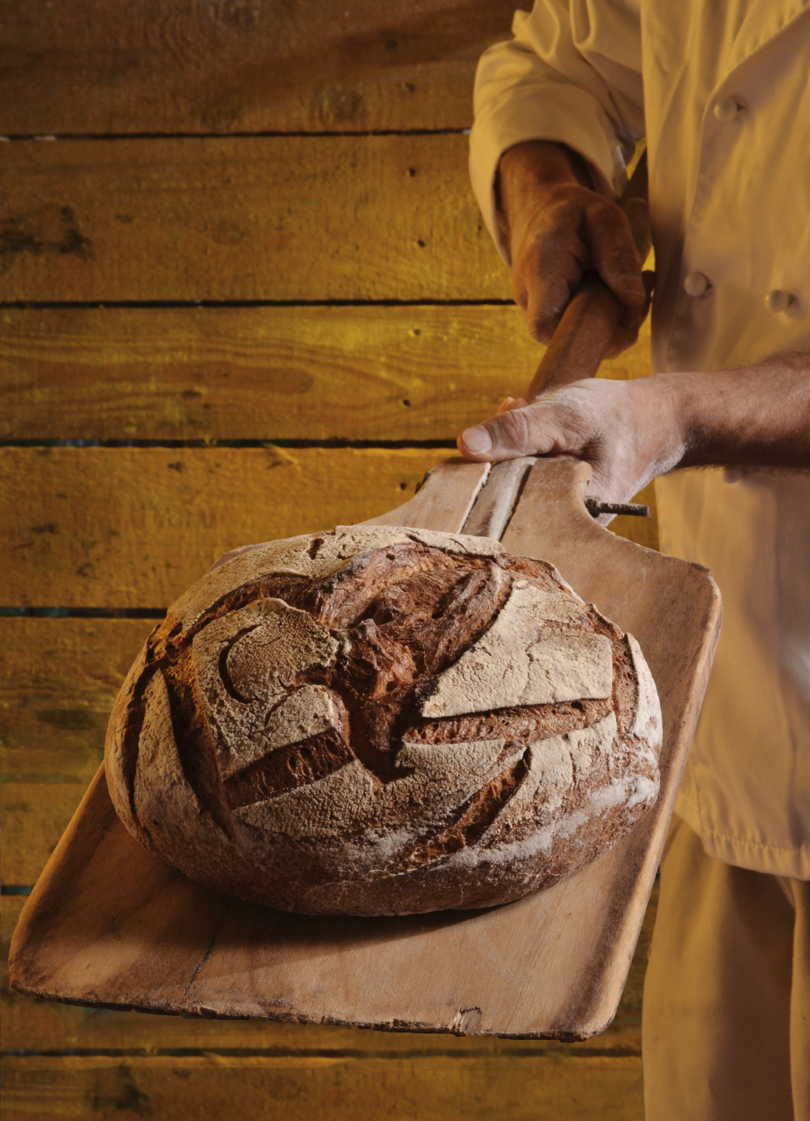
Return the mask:
<svg viewBox="0 0 810 1121">
<path fill-rule="evenodd" d="M 348 9 L 348 10 L 347 10 Z M 472 123 L 514 0 L 9 0 L 0 132 L 299 132 Z"/>
</svg>

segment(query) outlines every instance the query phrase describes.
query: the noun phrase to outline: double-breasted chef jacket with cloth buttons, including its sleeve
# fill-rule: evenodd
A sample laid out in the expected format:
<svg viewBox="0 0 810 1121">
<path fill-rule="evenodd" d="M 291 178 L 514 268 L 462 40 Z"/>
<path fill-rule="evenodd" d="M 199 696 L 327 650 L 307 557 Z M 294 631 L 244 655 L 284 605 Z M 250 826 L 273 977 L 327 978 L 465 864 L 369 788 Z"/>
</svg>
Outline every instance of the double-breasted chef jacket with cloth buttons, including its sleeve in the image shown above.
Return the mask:
<svg viewBox="0 0 810 1121">
<path fill-rule="evenodd" d="M 504 260 L 502 152 L 566 143 L 615 196 L 646 137 L 653 371 L 810 353 L 810 0 L 537 0 L 512 29 L 478 64 L 469 158 Z M 810 879 L 810 475 L 677 471 L 657 494 L 662 548 L 724 599 L 677 812 L 709 855 Z"/>
</svg>

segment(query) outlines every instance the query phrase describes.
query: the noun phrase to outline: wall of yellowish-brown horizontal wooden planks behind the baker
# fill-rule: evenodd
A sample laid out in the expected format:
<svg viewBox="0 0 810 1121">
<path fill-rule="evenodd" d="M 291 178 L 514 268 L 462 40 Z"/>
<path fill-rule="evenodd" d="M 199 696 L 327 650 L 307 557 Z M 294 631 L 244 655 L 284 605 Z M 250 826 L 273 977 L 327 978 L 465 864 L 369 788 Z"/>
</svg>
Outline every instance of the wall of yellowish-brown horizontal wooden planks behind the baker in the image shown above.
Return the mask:
<svg viewBox="0 0 810 1121">
<path fill-rule="evenodd" d="M 7 0 L 6 949 L 166 605 L 225 549 L 404 501 L 529 380 L 464 135 L 512 7 Z M 643 337 L 604 372 L 648 369 Z M 94 1011 L 4 976 L 3 1117 L 639 1121 L 653 914 L 578 1045 Z"/>
</svg>

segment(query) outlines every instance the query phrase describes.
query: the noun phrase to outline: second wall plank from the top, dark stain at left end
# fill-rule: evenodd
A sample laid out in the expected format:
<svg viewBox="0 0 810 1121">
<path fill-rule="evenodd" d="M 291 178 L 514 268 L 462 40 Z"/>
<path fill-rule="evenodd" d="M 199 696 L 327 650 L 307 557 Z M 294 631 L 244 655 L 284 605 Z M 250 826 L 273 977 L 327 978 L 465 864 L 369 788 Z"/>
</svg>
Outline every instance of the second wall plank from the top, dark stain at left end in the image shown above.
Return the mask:
<svg viewBox="0 0 810 1121">
<path fill-rule="evenodd" d="M 0 146 L 2 300 L 501 299 L 460 135 Z"/>
</svg>

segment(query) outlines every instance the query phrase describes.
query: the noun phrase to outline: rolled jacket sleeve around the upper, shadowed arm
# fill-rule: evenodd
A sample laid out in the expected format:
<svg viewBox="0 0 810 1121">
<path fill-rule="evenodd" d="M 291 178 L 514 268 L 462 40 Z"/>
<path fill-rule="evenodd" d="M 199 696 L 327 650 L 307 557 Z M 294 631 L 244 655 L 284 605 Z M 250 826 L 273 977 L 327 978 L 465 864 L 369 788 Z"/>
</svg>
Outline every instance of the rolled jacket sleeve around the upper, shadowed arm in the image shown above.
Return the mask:
<svg viewBox="0 0 810 1121">
<path fill-rule="evenodd" d="M 508 148 L 566 143 L 587 160 L 596 188 L 615 197 L 644 136 L 641 0 L 536 0 L 516 11 L 509 43 L 484 52 L 475 76 L 469 174 L 490 233 L 509 265 L 494 182 Z"/>
</svg>

